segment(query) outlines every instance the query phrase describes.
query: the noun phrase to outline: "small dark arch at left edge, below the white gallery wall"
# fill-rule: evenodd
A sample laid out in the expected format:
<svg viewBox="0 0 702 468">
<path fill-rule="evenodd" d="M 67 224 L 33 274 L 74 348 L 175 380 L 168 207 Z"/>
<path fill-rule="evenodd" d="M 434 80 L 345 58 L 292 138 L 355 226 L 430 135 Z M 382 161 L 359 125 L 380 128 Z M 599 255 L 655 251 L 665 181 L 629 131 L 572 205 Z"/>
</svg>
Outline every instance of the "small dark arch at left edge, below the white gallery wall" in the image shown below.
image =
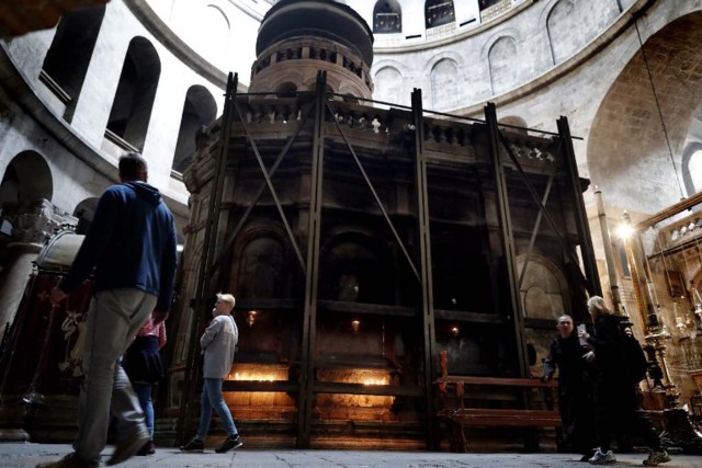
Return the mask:
<svg viewBox="0 0 702 468">
<path fill-rule="evenodd" d="M 0 182 L 0 207 L 4 203 L 50 202 L 53 196 L 52 171 L 42 155 L 26 150 L 12 158 Z"/>
</svg>

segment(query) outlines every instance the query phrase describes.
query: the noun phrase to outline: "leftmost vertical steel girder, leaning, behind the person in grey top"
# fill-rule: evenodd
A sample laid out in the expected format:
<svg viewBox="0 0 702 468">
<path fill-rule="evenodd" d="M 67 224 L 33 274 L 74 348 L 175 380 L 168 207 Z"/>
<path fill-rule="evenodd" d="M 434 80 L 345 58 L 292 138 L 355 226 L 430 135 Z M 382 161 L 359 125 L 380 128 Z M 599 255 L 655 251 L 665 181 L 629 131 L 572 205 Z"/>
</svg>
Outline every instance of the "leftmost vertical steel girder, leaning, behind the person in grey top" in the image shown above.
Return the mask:
<svg viewBox="0 0 702 468">
<path fill-rule="evenodd" d="M 205 310 L 207 309 L 207 297 L 211 288 L 211 270 L 207 267 L 212 264 L 215 256 L 217 228 L 219 226 L 219 213 L 222 209 L 222 192 L 224 190 L 224 181 L 226 179 L 227 155 L 229 151 L 229 138 L 231 136 L 231 113 L 233 103 L 236 100 L 238 75 L 229 73 L 227 80 L 227 90 L 224 100 L 224 112 L 222 115 L 222 138 L 219 140 L 219 152 L 217 153 L 216 170 L 214 172 L 214 183 L 210 193 L 210 205 L 207 207 L 207 220 L 205 225 L 205 236 L 203 239 L 202 256 L 200 259 L 200 269 L 197 270 L 197 283 L 195 284 L 193 323 L 191 328 L 190 343 L 188 346 L 188 361 L 185 362 L 184 388 L 181 396 L 180 411 L 178 415 L 177 437 L 184 441 L 186 435 L 188 415 L 191 412 L 191 403 L 195 400 L 194 381 L 197 381 L 200 366 L 195 364 L 200 353 L 197 347 L 197 330 L 205 320 Z"/>
</svg>

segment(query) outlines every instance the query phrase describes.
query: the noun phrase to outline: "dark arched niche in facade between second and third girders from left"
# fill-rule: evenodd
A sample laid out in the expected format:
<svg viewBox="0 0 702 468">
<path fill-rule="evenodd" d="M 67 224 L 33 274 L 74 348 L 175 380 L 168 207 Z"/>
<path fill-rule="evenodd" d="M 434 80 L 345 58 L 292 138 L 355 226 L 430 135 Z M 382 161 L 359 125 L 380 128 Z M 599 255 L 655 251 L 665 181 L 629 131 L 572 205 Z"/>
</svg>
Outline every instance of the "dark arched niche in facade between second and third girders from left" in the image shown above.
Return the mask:
<svg viewBox="0 0 702 468">
<path fill-rule="evenodd" d="M 319 294 L 346 303 L 394 303 L 395 273 L 387 243 L 347 231 L 335 236 L 320 252 Z"/>
</svg>

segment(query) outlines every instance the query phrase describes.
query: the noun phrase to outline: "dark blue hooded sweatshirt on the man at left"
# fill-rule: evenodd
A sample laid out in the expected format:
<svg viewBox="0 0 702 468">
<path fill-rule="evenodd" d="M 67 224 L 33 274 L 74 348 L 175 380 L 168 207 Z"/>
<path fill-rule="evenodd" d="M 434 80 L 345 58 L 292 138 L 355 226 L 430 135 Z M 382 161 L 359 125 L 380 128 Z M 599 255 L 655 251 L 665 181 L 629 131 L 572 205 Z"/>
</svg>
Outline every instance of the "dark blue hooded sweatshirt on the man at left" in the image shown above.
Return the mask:
<svg viewBox="0 0 702 468">
<path fill-rule="evenodd" d="M 156 310 L 169 311 L 177 246 L 173 215 L 157 189 L 138 181 L 112 185 L 59 288 L 70 293 L 94 269 L 93 293 L 136 288 L 158 296 Z"/>
</svg>

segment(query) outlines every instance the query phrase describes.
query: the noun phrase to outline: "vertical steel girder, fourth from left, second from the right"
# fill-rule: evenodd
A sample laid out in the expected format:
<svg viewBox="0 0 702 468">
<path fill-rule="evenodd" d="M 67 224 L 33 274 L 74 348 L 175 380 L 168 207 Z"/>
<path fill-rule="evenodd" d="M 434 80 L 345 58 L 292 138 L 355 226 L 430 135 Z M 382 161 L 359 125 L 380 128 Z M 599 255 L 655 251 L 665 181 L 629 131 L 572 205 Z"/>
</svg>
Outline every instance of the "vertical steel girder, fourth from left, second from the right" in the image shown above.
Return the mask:
<svg viewBox="0 0 702 468">
<path fill-rule="evenodd" d="M 507 277 L 509 282 L 509 310 L 511 313 L 514 339 L 517 344 L 519 370 L 522 377 L 529 376 L 529 361 L 526 358 L 526 343 L 524 342 L 524 319 L 522 313 L 521 298 L 517 284 L 517 259 L 514 254 L 514 241 L 512 236 L 512 221 L 509 212 L 509 195 L 507 190 L 507 179 L 505 178 L 505 164 L 500 157 L 500 135 L 497 126 L 497 112 L 495 104 L 488 103 L 485 106 L 485 123 L 487 129 L 488 145 L 492 157 L 492 168 L 495 171 L 495 191 L 497 194 L 497 214 L 499 217 L 500 236 L 506 263 Z"/>
</svg>

